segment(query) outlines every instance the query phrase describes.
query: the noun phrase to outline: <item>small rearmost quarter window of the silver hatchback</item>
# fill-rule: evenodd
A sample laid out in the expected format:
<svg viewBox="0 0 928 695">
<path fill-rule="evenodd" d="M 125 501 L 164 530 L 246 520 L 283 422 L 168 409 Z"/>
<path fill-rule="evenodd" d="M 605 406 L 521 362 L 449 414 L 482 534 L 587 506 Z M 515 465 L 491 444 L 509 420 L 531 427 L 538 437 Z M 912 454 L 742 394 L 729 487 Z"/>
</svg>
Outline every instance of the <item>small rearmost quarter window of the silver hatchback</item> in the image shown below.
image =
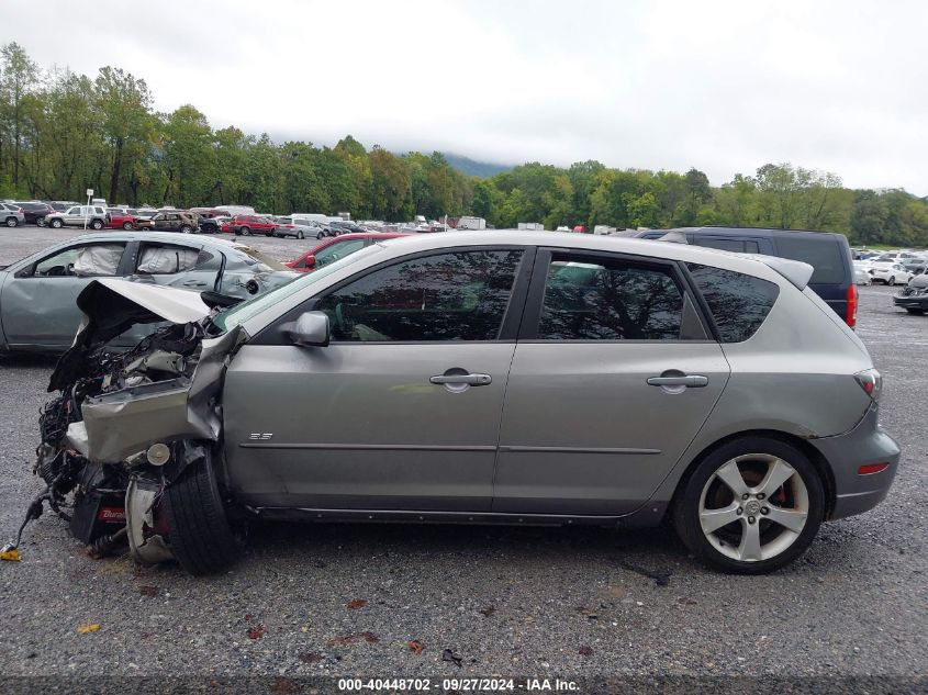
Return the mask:
<svg viewBox="0 0 928 695">
<path fill-rule="evenodd" d="M 708 304 L 723 343 L 742 343 L 757 333 L 780 294 L 776 284 L 760 278 L 697 264 L 686 267 Z"/>
</svg>

